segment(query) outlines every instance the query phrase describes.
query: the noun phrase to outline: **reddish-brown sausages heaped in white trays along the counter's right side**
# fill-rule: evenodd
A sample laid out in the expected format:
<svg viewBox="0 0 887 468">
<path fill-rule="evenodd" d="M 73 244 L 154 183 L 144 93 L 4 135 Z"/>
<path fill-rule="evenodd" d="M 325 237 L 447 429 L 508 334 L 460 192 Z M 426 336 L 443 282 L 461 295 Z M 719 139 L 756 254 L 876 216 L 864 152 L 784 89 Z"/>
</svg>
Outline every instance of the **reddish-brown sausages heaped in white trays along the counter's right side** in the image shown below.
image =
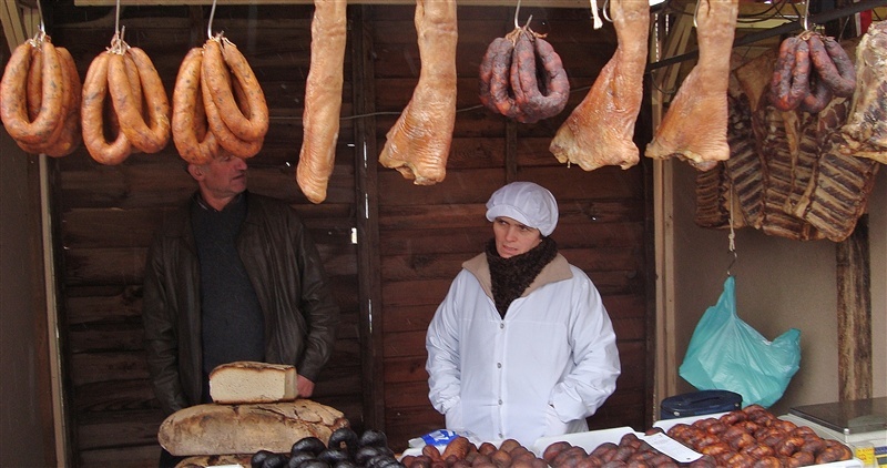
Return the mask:
<svg viewBox="0 0 887 468">
<path fill-rule="evenodd" d="M 652 428 L 646 434 L 662 431 Z M 679 464 L 634 433 L 628 433 L 618 444 L 604 442 L 591 451 L 568 441 L 557 441 L 546 447 L 541 458 L 513 439 L 504 440 L 497 448 L 490 442 L 475 446 L 465 437 L 457 437 L 442 454 L 436 446 L 425 446 L 421 455 L 406 456 L 401 464 L 406 468 L 777 468 L 853 458 L 844 444 L 824 439 L 807 426 L 779 419 L 759 405 L 720 417 L 702 417 L 692 424 L 679 423 L 665 434 L 702 457 L 690 464 Z"/>
</svg>

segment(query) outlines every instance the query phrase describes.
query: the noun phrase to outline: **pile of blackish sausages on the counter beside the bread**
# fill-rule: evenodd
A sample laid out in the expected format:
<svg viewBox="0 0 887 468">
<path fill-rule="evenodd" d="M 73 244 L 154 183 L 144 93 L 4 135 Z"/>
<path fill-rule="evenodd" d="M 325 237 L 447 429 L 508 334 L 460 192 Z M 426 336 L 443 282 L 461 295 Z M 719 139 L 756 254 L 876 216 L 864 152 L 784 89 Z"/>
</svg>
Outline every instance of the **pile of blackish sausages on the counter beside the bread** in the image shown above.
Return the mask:
<svg viewBox="0 0 887 468">
<path fill-rule="evenodd" d="M 333 431 L 324 444 L 304 437 L 289 454 L 259 450 L 249 460 L 252 468 L 404 468 L 388 447 L 385 433 L 367 429 L 360 436 L 349 427 Z"/>
</svg>

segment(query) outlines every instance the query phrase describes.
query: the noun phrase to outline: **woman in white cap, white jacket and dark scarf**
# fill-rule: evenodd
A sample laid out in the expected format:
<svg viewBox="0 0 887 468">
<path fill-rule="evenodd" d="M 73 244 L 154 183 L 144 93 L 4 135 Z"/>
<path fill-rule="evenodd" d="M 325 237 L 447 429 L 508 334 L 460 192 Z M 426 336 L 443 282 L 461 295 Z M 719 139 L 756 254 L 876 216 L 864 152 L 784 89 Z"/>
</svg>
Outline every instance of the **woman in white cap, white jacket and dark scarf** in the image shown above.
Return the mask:
<svg viewBox="0 0 887 468">
<path fill-rule="evenodd" d="M 588 430 L 615 389 L 615 334 L 598 289 L 549 236 L 558 202 L 514 182 L 487 202 L 493 238 L 462 264 L 428 328 L 429 398 L 475 440 Z"/>
</svg>

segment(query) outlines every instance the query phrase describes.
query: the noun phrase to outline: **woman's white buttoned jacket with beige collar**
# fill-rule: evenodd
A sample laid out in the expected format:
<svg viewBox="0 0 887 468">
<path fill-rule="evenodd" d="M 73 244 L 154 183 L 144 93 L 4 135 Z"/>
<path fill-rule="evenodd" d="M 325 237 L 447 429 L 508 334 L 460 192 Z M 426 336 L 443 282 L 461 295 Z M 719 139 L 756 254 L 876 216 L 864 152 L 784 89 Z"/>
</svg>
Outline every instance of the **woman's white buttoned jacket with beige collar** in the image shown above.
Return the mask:
<svg viewBox="0 0 887 468">
<path fill-rule="evenodd" d="M 477 440 L 588 429 L 615 390 L 615 334 L 598 289 L 558 254 L 499 316 L 486 254 L 462 264 L 428 328 L 429 398 Z"/>
</svg>

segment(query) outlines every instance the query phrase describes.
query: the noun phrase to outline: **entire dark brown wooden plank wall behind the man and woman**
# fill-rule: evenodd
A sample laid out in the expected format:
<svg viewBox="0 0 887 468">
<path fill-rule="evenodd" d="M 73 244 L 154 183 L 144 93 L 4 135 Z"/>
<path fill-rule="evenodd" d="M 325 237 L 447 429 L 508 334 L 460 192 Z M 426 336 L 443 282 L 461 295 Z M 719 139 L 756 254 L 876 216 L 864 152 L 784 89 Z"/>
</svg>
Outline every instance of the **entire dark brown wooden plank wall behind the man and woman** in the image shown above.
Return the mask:
<svg viewBox="0 0 887 468">
<path fill-rule="evenodd" d="M 71 50 L 82 78 L 110 43 L 113 9 L 64 1 L 44 11 L 53 42 Z M 344 410 L 357 428 L 386 430 L 395 449 L 442 426 L 427 398 L 426 326 L 461 262 L 491 236 L 483 218 L 490 193 L 510 180 L 529 180 L 558 197 L 561 222 L 553 237 L 601 289 L 619 336 L 626 372 L 590 424 L 645 428 L 652 408 L 648 329 L 653 297 L 645 169 L 585 173 L 559 164 L 548 152 L 554 131 L 611 57 L 612 28 L 593 31 L 588 10 L 523 9 L 521 22 L 533 14 L 533 28 L 550 33 L 574 89 L 561 115 L 523 125 L 479 108 L 477 98 L 480 59 L 496 37 L 511 30 L 513 9 L 460 7 L 460 112 L 449 173 L 441 184 L 419 187 L 396 171 L 373 166 L 420 70 L 412 8 L 351 7 L 349 49 L 359 32 L 363 58 L 346 58 L 346 119 L 336 169 L 327 201 L 313 205 L 293 175 L 302 143 L 312 11 L 310 6 L 218 7 L 213 31 L 224 31 L 243 50 L 271 108 L 263 153 L 251 161 L 251 190 L 285 199 L 303 214 L 343 307 L 339 340 L 316 399 Z M 170 95 L 182 58 L 206 40 L 207 17 L 208 7 L 129 7 L 122 12 L 124 39 L 154 60 Z M 366 84 L 354 89 L 353 83 Z M 370 114 L 350 119 L 356 112 Z M 363 143 L 368 144 L 369 169 L 355 164 Z M 162 415 L 142 345 L 144 255 L 164 215 L 186 200 L 194 184 L 172 143 L 119 166 L 93 162 L 82 147 L 53 163 L 63 257 L 62 359 L 74 460 L 90 467 L 155 466 Z M 364 200 L 371 205 L 360 206 Z M 378 215 L 357 220 L 365 208 Z M 350 244 L 355 225 L 368 230 L 360 237 L 364 245 Z M 381 304 L 374 302 L 370 311 L 368 297 Z M 373 334 L 370 325 L 378 327 Z"/>
</svg>

